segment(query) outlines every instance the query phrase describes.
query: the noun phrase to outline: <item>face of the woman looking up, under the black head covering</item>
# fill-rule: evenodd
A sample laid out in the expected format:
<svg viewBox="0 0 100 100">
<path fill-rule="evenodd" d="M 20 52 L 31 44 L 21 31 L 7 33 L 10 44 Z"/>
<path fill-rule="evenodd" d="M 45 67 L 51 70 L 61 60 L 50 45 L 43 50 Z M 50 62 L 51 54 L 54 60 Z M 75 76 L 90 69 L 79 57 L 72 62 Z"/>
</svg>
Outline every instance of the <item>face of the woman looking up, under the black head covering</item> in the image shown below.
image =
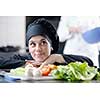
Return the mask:
<svg viewBox="0 0 100 100">
<path fill-rule="evenodd" d="M 29 40 L 29 52 L 33 59 L 37 62 L 43 62 L 51 54 L 51 44 L 41 36 L 33 36 Z"/>
</svg>

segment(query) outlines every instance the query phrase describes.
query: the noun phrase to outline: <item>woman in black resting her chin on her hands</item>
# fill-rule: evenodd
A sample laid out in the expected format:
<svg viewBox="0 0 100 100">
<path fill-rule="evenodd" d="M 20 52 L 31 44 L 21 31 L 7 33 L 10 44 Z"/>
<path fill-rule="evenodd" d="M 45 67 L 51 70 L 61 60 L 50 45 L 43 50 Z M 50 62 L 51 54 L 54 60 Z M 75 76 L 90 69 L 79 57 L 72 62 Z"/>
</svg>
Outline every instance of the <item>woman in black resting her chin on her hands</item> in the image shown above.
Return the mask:
<svg viewBox="0 0 100 100">
<path fill-rule="evenodd" d="M 31 62 L 34 67 L 46 64 L 68 64 L 70 62 L 86 61 L 90 66 L 93 62 L 84 56 L 56 54 L 59 47 L 59 37 L 53 25 L 45 19 L 37 19 L 28 26 L 26 33 L 29 46 L 28 55 L 0 57 L 1 69 L 12 69 Z"/>
</svg>

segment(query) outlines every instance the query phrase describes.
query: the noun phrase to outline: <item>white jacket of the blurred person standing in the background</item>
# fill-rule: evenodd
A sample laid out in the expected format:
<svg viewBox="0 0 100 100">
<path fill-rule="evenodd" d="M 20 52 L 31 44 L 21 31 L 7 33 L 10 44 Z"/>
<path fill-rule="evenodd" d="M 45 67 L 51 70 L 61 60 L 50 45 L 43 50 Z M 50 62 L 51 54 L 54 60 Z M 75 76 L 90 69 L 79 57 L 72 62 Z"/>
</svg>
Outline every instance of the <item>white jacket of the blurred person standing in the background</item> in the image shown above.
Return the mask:
<svg viewBox="0 0 100 100">
<path fill-rule="evenodd" d="M 81 27 L 81 33 L 69 33 L 69 27 Z M 59 22 L 57 33 L 60 42 L 67 40 L 64 47 L 64 54 L 83 55 L 92 59 L 95 66 L 98 66 L 97 44 L 89 44 L 83 40 L 85 31 L 100 27 L 99 16 L 62 16 Z"/>
</svg>

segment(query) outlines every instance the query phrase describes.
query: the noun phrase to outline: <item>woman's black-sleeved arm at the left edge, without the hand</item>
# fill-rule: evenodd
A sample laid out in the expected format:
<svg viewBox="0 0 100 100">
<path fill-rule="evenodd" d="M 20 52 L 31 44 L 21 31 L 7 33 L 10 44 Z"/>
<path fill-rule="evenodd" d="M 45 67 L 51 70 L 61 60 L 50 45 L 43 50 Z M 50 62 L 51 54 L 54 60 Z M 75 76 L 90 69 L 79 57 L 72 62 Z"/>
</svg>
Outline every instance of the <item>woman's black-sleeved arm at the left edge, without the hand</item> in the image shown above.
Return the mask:
<svg viewBox="0 0 100 100">
<path fill-rule="evenodd" d="M 25 58 L 19 54 L 12 55 L 11 57 L 0 56 L 0 69 L 17 68 L 25 63 Z"/>
</svg>

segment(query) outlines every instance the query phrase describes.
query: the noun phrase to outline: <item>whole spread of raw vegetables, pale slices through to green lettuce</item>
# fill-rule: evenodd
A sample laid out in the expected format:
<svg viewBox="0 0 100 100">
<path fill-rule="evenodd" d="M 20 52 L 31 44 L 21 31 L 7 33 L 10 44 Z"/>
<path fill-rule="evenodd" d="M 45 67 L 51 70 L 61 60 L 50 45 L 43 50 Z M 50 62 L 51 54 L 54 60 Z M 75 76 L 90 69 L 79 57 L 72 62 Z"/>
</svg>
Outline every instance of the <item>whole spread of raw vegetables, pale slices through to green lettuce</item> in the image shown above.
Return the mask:
<svg viewBox="0 0 100 100">
<path fill-rule="evenodd" d="M 29 67 L 28 67 L 29 68 Z M 25 76 L 27 69 L 25 67 L 19 67 L 11 69 L 10 73 L 13 75 Z M 37 74 L 38 73 L 38 74 Z M 34 76 L 52 76 L 54 79 L 64 79 L 69 82 L 80 81 L 80 80 L 100 80 L 100 72 L 97 68 L 89 66 L 88 63 L 84 62 L 71 62 L 68 65 L 45 65 L 42 69 L 37 70 L 36 68 L 30 67 L 27 75 Z"/>
</svg>

